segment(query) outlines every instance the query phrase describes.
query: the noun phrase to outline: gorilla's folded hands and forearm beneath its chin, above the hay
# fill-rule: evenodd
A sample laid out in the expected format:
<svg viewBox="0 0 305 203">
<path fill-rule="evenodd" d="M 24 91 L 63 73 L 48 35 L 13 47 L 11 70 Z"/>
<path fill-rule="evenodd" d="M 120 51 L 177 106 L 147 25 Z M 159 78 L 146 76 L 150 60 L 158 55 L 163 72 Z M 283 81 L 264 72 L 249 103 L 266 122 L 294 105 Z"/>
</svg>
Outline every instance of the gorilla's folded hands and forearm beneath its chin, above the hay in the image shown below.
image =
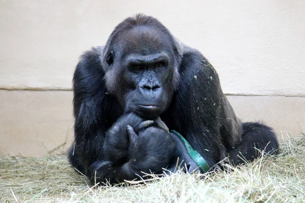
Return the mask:
<svg viewBox="0 0 305 203">
<path fill-rule="evenodd" d="M 90 178 L 93 183 L 106 179 L 113 184 L 142 177 L 143 174 L 137 174 L 139 171 L 162 174 L 174 150 L 168 127 L 159 117 L 144 120 L 135 113 L 125 114 L 106 133 L 104 161 L 89 168 L 99 177 Z"/>
</svg>

